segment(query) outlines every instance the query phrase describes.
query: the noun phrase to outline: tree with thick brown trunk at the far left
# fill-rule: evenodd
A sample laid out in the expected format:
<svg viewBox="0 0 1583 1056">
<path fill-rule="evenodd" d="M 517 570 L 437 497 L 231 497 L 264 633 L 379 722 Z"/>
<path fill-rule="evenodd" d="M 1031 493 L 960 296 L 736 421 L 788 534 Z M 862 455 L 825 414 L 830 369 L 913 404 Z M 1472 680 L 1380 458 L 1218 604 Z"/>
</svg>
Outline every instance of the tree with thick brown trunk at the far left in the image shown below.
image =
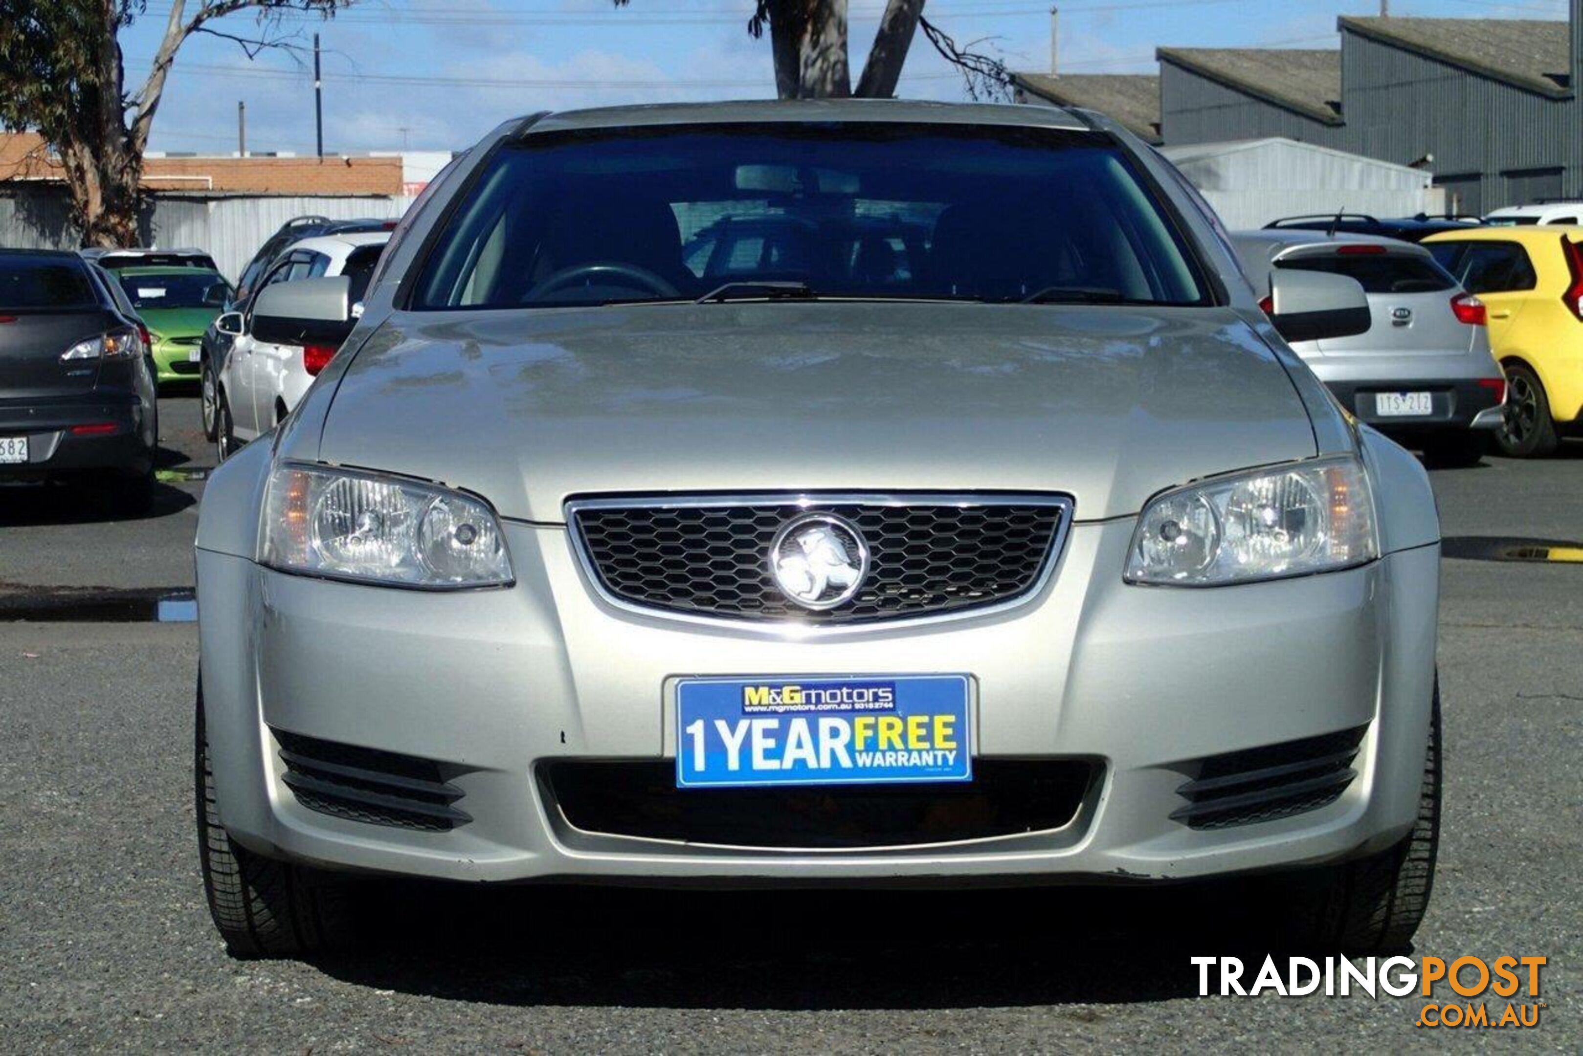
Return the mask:
<svg viewBox="0 0 1583 1056">
<path fill-rule="evenodd" d="M 84 245 L 135 245 L 142 152 L 182 43 L 211 33 L 250 52 L 290 46 L 282 14 L 329 17 L 350 3 L 171 0 L 149 74 L 128 93 L 119 38 L 147 14 L 147 0 L 0 0 L 0 125 L 43 138 L 71 193 Z M 256 16 L 252 36 L 212 25 L 241 11 Z"/>
</svg>

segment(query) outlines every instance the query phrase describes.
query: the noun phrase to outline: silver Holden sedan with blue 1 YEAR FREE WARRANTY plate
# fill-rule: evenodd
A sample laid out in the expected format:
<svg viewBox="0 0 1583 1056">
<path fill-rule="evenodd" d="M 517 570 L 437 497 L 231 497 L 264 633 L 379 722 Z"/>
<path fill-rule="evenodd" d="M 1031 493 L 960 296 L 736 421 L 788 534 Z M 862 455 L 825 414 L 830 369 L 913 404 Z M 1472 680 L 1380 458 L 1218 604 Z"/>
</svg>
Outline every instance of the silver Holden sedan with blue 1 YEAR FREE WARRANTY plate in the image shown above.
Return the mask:
<svg viewBox="0 0 1583 1056">
<path fill-rule="evenodd" d="M 355 325 L 344 275 L 260 291 L 260 339 L 351 332 L 203 499 L 233 952 L 332 944 L 350 874 L 1257 872 L 1407 942 L 1434 499 L 1276 329 L 1366 329 L 1355 280 L 1277 269 L 1271 321 L 1168 163 L 1045 106 L 537 116 L 429 190 Z M 684 264 L 763 214 L 921 217 L 929 266 Z"/>
</svg>

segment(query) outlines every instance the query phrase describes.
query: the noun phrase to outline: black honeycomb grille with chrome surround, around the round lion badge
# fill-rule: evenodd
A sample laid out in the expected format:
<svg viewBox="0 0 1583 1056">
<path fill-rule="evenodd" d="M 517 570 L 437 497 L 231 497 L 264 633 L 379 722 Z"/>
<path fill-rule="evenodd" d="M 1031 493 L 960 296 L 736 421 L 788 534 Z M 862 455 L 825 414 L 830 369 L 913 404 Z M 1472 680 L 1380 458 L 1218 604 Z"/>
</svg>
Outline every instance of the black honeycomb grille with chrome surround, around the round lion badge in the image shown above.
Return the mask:
<svg viewBox="0 0 1583 1056">
<path fill-rule="evenodd" d="M 776 532 L 806 513 L 855 526 L 869 575 L 848 602 L 809 611 L 769 573 Z M 841 627 L 969 614 L 1035 591 L 1072 515 L 1064 496 L 752 496 L 568 503 L 587 573 L 624 605 L 684 617 Z"/>
</svg>

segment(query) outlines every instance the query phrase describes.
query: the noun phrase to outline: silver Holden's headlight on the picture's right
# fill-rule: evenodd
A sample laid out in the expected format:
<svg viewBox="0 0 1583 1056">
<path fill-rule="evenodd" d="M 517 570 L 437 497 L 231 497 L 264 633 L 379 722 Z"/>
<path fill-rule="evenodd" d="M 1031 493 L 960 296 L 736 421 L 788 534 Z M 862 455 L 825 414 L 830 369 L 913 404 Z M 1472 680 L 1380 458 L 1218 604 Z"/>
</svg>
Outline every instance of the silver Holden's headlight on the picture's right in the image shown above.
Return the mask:
<svg viewBox="0 0 1583 1056">
<path fill-rule="evenodd" d="M 1220 586 L 1350 568 L 1377 556 L 1361 462 L 1317 459 L 1157 496 L 1138 518 L 1127 581 Z"/>
</svg>

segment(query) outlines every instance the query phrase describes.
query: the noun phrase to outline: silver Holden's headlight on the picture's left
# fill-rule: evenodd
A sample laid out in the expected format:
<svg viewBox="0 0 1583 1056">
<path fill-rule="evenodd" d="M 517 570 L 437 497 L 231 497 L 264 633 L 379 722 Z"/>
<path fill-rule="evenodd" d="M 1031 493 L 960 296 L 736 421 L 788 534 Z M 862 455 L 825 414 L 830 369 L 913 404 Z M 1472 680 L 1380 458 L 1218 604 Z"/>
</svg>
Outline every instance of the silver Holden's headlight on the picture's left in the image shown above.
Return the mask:
<svg viewBox="0 0 1583 1056">
<path fill-rule="evenodd" d="M 263 560 L 282 572 L 408 587 L 511 583 L 500 522 L 478 499 L 310 465 L 271 475 Z"/>
</svg>

